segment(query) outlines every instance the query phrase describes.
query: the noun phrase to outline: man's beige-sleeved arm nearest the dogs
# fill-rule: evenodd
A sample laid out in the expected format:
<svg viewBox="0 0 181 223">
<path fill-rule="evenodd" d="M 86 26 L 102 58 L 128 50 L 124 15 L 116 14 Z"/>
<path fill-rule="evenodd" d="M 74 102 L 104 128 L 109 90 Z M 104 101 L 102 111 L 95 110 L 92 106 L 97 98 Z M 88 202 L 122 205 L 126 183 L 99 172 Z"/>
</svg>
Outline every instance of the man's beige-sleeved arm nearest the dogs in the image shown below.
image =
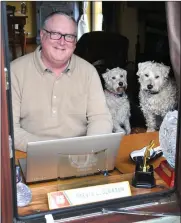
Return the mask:
<svg viewBox="0 0 181 223">
<path fill-rule="evenodd" d="M 87 99 L 87 118 L 87 135 L 112 132 L 112 117 L 107 107 L 102 84 L 96 69 L 90 77 Z"/>
</svg>

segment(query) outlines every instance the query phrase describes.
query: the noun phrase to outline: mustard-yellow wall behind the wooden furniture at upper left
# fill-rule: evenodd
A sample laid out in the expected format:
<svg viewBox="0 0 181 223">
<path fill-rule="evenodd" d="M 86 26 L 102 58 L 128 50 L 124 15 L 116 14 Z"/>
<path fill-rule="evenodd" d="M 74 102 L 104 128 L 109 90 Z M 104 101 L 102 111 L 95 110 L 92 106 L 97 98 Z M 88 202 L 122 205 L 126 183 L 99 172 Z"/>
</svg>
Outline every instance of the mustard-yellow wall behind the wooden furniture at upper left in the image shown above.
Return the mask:
<svg viewBox="0 0 181 223">
<path fill-rule="evenodd" d="M 26 15 L 28 16 L 28 18 L 26 20 L 26 25 L 24 29 L 28 33 L 28 38 L 32 38 L 36 36 L 36 7 L 35 7 L 36 2 L 30 2 L 30 1 L 25 1 L 25 2 L 27 6 Z M 15 6 L 16 14 L 18 14 L 21 11 L 21 2 L 7 1 L 6 4 Z"/>
</svg>

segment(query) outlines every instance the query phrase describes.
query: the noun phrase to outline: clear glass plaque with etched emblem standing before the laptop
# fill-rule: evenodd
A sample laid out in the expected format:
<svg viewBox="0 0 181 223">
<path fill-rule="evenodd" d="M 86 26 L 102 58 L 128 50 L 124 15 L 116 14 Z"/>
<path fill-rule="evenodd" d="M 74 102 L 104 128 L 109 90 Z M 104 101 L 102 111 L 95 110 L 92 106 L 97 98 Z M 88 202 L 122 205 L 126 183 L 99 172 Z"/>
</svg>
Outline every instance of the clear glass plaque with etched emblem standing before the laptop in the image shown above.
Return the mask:
<svg viewBox="0 0 181 223">
<path fill-rule="evenodd" d="M 107 173 L 107 150 L 88 154 L 58 154 L 58 190 L 65 189 L 63 179 Z M 88 186 L 91 181 L 81 180 L 78 187 Z M 71 187 L 72 188 L 72 187 Z M 75 188 L 75 187 L 74 187 Z"/>
</svg>

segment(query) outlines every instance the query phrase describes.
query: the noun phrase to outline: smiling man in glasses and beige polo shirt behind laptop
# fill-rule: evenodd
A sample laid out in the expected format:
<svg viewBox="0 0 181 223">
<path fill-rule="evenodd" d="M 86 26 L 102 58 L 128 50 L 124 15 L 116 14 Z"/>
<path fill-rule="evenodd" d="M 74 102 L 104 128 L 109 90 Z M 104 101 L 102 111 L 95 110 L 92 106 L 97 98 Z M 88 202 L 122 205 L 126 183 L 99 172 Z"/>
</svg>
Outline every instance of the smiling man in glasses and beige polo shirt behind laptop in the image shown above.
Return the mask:
<svg viewBox="0 0 181 223">
<path fill-rule="evenodd" d="M 15 148 L 45 139 L 112 132 L 96 69 L 73 54 L 77 26 L 54 12 L 40 31 L 41 47 L 11 62 Z"/>
</svg>

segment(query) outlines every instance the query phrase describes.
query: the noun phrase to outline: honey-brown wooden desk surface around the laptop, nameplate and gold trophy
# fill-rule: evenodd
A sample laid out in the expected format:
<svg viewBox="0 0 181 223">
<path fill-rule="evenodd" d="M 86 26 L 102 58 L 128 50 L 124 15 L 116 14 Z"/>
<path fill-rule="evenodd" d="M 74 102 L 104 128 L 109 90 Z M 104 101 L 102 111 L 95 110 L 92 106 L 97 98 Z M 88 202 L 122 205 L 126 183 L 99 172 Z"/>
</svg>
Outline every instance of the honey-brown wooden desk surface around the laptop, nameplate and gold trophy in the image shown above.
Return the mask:
<svg viewBox="0 0 181 223">
<path fill-rule="evenodd" d="M 154 139 L 156 146 L 158 145 L 158 133 L 141 133 L 125 136 L 120 146 L 117 157 L 116 168 L 118 170 L 111 172 L 111 175 L 104 177 L 102 175 L 88 176 L 83 178 L 73 178 L 60 181 L 51 181 L 46 183 L 37 183 L 29 185 L 32 190 L 32 202 L 23 208 L 18 208 L 19 215 L 29 215 L 40 211 L 48 211 L 47 193 L 57 190 L 65 190 L 70 188 L 93 186 L 98 184 L 107 184 L 113 182 L 129 181 L 131 183 L 135 165 L 129 159 L 129 153 L 135 149 L 140 149 L 147 145 L 150 140 Z M 26 157 L 26 153 L 16 151 L 16 159 Z M 153 163 L 154 167 L 158 166 L 163 158 Z M 167 185 L 155 173 L 156 184 L 160 187 L 152 189 L 139 189 L 131 186 L 132 195 L 153 193 L 167 190 Z M 130 184 L 131 185 L 131 184 Z"/>
</svg>

